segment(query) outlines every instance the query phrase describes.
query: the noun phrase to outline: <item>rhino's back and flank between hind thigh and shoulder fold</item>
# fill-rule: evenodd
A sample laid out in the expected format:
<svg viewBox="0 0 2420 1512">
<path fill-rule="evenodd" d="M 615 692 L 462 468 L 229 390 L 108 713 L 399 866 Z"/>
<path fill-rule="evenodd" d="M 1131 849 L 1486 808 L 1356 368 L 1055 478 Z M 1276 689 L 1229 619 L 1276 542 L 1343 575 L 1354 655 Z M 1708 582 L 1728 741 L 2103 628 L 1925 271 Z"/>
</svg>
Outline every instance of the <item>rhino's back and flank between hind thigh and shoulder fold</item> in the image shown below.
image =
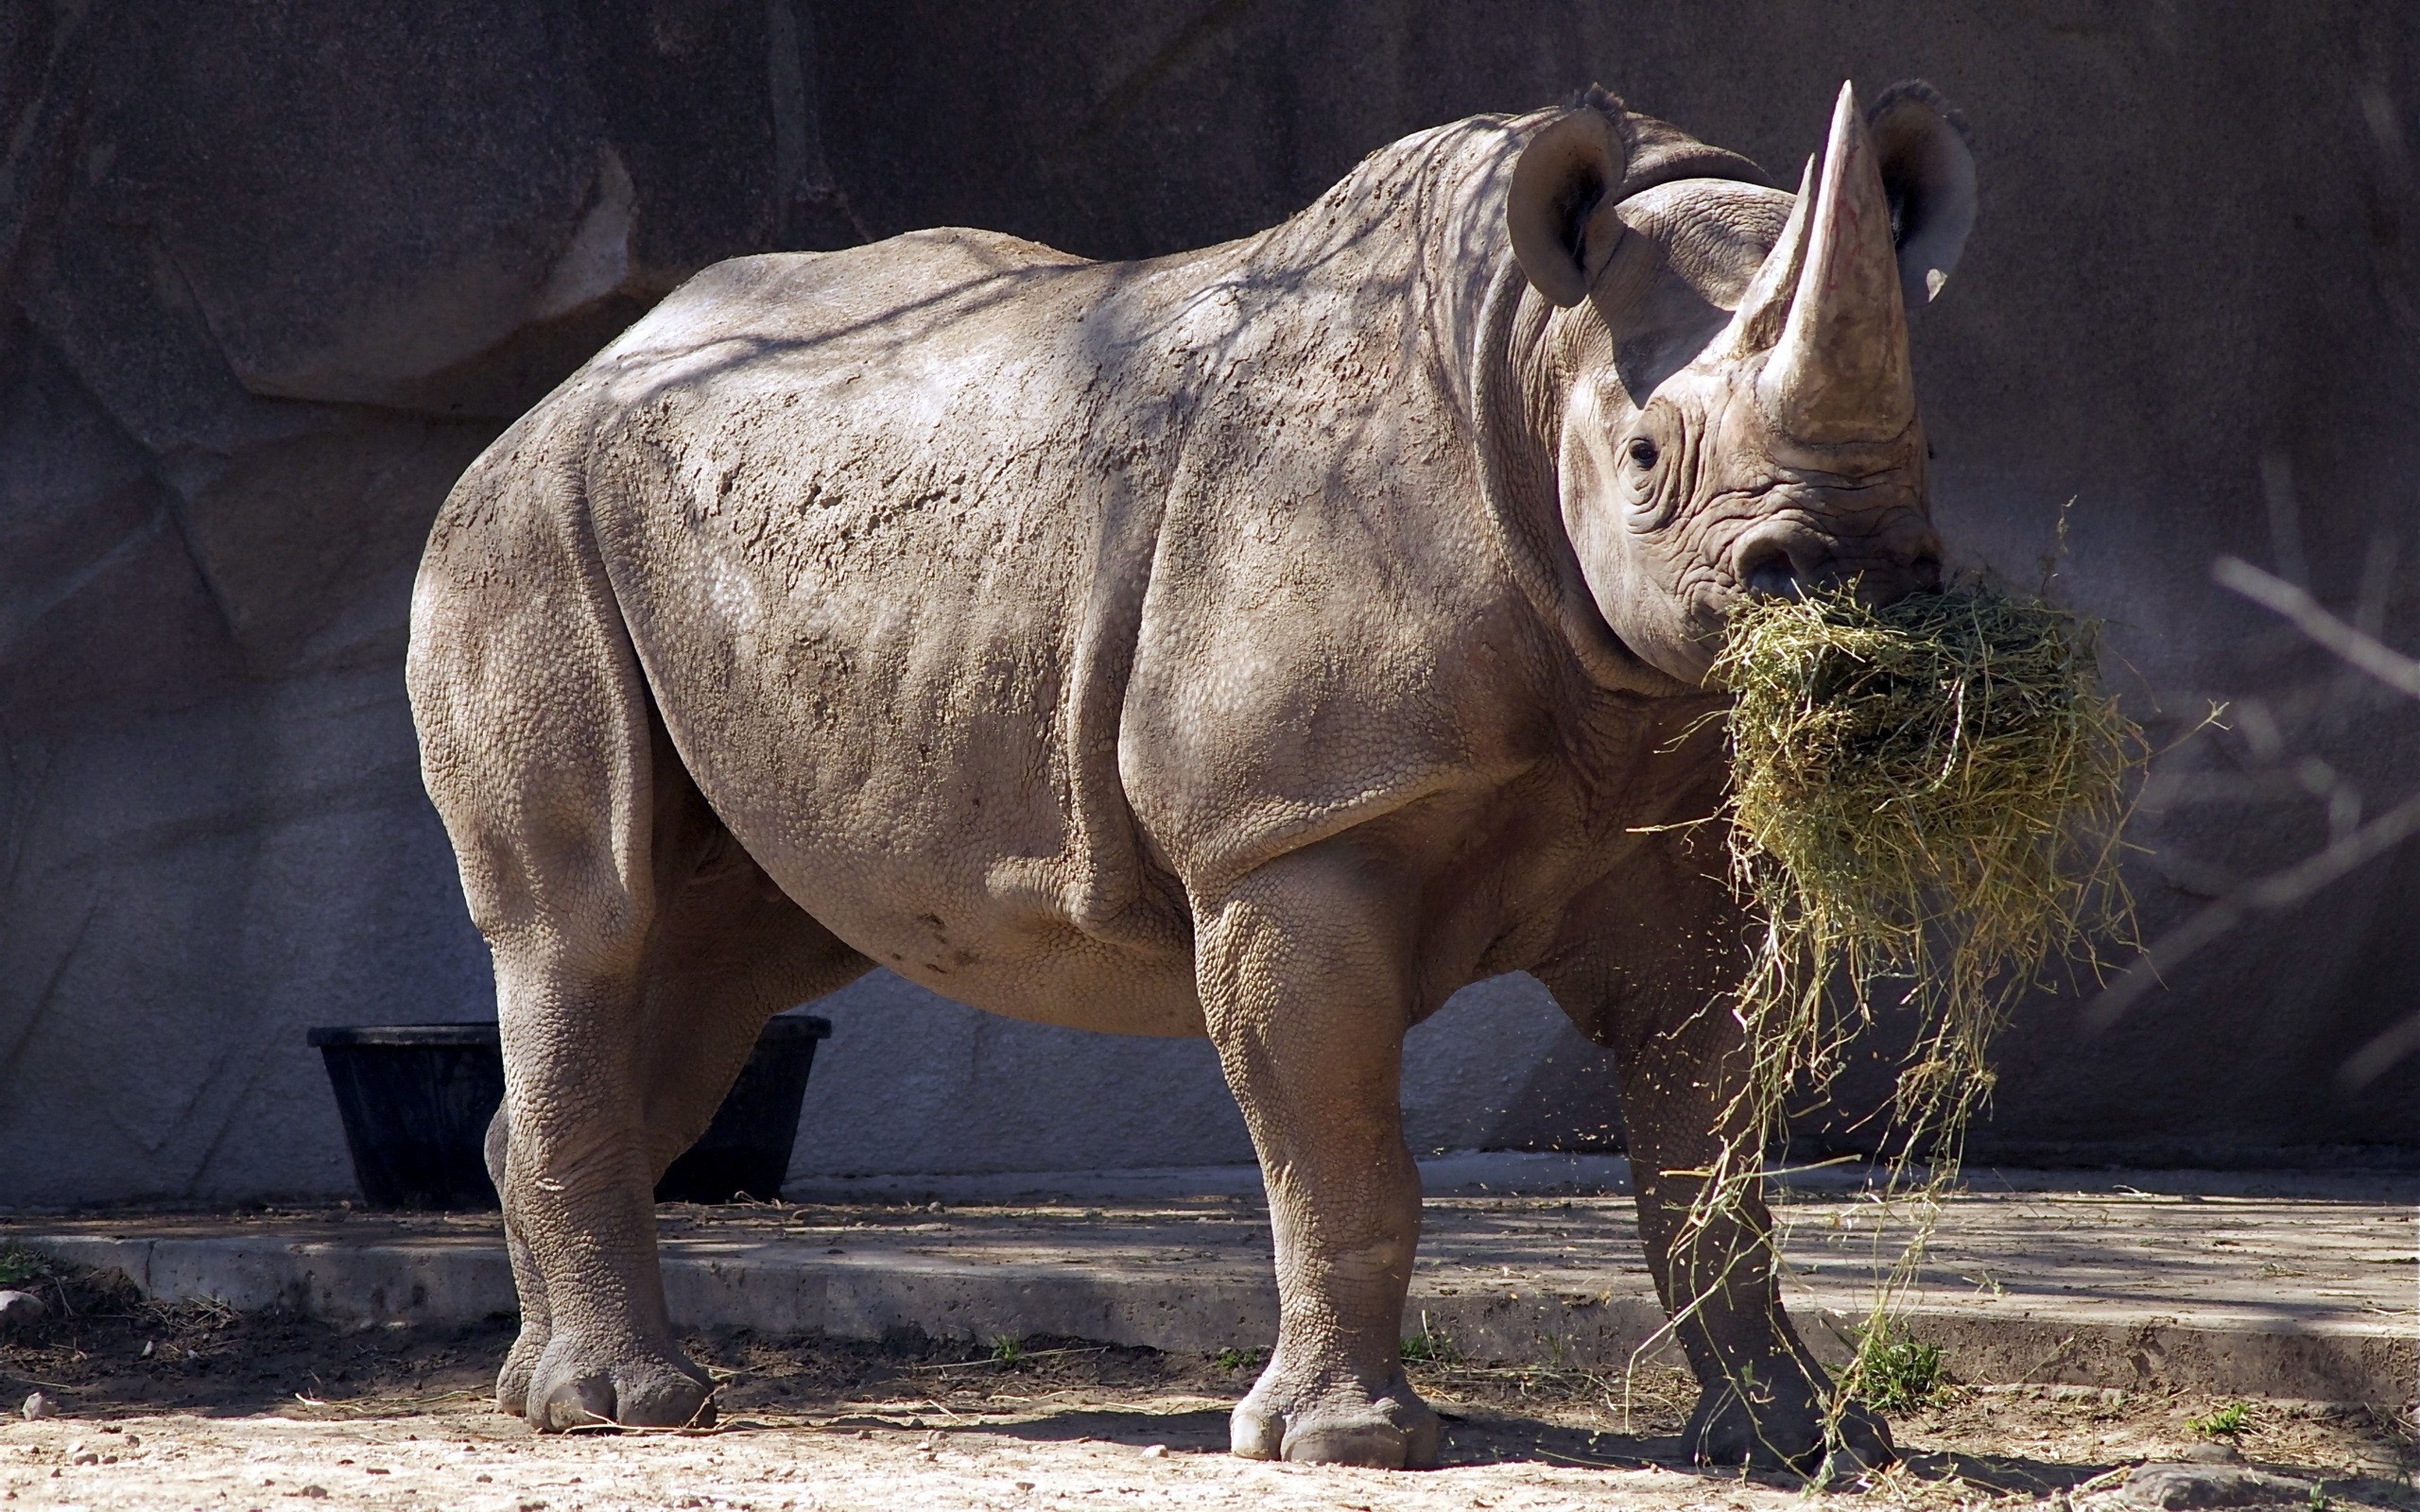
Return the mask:
<svg viewBox="0 0 2420 1512">
<path fill-rule="evenodd" d="M 791 898 L 963 1002 L 1191 1033 L 1116 784 L 1166 450 L 1137 278 L 1181 271 L 983 232 L 743 259 L 578 404 L 663 721 Z"/>
</svg>

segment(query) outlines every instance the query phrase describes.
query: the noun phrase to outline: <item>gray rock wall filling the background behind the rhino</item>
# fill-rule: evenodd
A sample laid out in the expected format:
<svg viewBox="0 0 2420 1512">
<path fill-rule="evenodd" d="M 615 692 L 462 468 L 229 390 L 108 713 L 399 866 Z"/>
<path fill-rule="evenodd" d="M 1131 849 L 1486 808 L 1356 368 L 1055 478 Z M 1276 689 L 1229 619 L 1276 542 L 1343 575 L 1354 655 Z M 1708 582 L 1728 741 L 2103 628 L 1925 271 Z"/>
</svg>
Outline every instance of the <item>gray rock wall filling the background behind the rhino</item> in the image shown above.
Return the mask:
<svg viewBox="0 0 2420 1512">
<path fill-rule="evenodd" d="M 1919 331 L 1941 518 L 2030 581 L 2074 501 L 2057 583 L 2183 740 L 2137 832 L 2159 934 L 2420 789 L 2420 721 L 2207 583 L 2299 559 L 2345 602 L 2367 564 L 2410 644 L 2410 7 L 0 2 L 0 1200 L 344 1190 L 302 1026 L 491 1011 L 414 772 L 411 566 L 462 462 L 697 266 L 1200 244 L 1588 80 L 1788 172 L 1842 77 L 1902 75 L 1984 172 Z M 2415 905 L 2405 847 L 2108 1031 L 2028 1004 L 1980 1144 L 2420 1147 L 2420 1057 L 2338 1077 L 2420 999 Z M 1244 1152 L 1203 1045 L 891 977 L 823 1011 L 818 1171 Z M 1413 1035 L 1406 1101 L 1423 1147 L 1617 1123 L 1522 980 Z"/>
</svg>

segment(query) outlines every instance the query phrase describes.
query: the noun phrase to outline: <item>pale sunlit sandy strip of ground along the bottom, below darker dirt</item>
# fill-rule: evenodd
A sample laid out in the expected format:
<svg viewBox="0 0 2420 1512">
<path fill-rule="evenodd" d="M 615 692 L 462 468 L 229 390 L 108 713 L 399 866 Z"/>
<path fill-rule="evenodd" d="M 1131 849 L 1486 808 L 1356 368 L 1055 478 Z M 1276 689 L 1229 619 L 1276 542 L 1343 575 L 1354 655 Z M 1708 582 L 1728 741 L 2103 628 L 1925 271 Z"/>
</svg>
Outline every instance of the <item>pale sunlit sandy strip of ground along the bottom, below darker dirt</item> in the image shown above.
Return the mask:
<svg viewBox="0 0 2420 1512">
<path fill-rule="evenodd" d="M 1440 1393 L 1442 1396 L 1442 1393 Z M 2115 1483 L 2171 1418 L 1977 1398 L 1905 1422 L 1905 1468 L 1822 1500 L 1885 1507 L 2052 1505 Z M 358 1403 L 368 1406 L 368 1403 Z M 973 1403 L 966 1403 L 973 1406 Z M 908 1410 L 922 1408 L 922 1410 Z M 356 1408 L 358 1410 L 358 1408 Z M 743 1512 L 929 1507 L 1730 1507 L 1798 1505 L 1788 1483 L 1696 1473 L 1672 1442 L 1585 1427 L 1585 1413 L 1508 1415 L 1457 1403 L 1450 1464 L 1425 1473 L 1270 1466 L 1220 1452 L 1227 1401 L 1058 1389 L 992 1410 L 934 1398 L 857 1403 L 832 1415 L 736 1415 L 704 1435 L 535 1437 L 460 1398 L 380 1403 L 365 1415 L 305 1408 L 247 1415 L 128 1415 L 0 1430 L 0 1497 L 29 1507 L 445 1507 Z M 2205 1408 L 2207 1410 L 2207 1408 Z M 1960 1422 L 1965 1418 L 1965 1422 Z M 2016 1442 L 2023 1447 L 2016 1447 Z M 2011 1452 L 1977 1452 L 1972 1444 Z M 1958 1452 L 1931 1444 L 1958 1444 Z M 2323 1478 L 2333 1507 L 2413 1505 L 2357 1427 L 2275 1413 L 2246 1435 L 2253 1464 Z M 2352 1461 L 2352 1464 L 2347 1464 Z M 2110 1473 L 2118 1471 L 2118 1473 Z M 2289 1502 L 2292 1505 L 2292 1502 Z M 2304 1497 L 2301 1505 L 2314 1505 Z"/>
</svg>

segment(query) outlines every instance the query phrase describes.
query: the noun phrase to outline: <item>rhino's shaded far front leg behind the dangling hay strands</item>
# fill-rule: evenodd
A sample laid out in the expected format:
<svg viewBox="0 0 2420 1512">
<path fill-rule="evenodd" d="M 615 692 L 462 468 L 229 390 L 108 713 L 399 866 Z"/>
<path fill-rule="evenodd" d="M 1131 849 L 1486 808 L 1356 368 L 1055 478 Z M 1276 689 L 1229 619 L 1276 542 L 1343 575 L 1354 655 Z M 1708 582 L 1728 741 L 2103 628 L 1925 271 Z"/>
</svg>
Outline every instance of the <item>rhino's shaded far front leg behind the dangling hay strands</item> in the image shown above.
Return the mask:
<svg viewBox="0 0 2420 1512">
<path fill-rule="evenodd" d="M 1771 1212 L 1762 1178 L 1711 1219 L 1692 1222 L 1723 1144 L 1740 1026 L 1716 1002 L 1677 1023 L 1631 1023 L 1621 1035 L 1621 1123 L 1629 1132 L 1638 1234 L 1655 1289 L 1675 1316 L 1699 1381 L 1687 1444 L 1699 1464 L 1815 1468 L 1827 1449 L 1832 1384 L 1781 1311 Z M 1747 1156 L 1757 1159 L 1757 1156 Z M 1890 1464 L 1890 1430 L 1849 1403 L 1837 1422 L 1846 1461 Z"/>
</svg>

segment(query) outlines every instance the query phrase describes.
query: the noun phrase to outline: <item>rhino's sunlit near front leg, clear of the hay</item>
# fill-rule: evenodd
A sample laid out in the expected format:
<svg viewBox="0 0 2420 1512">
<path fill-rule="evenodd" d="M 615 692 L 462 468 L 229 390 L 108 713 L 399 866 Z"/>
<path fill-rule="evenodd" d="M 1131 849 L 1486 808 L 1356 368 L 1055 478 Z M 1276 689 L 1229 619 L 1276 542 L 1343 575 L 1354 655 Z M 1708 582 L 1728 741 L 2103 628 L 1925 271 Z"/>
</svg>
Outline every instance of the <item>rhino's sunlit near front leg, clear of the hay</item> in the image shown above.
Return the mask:
<svg viewBox="0 0 2420 1512">
<path fill-rule="evenodd" d="M 1326 854 L 1263 866 L 1195 917 L 1203 1011 L 1278 1246 L 1278 1347 L 1234 1410 L 1234 1452 L 1433 1466 L 1437 1415 L 1401 1362 L 1421 1239 L 1399 1108 L 1404 929 Z"/>
</svg>

